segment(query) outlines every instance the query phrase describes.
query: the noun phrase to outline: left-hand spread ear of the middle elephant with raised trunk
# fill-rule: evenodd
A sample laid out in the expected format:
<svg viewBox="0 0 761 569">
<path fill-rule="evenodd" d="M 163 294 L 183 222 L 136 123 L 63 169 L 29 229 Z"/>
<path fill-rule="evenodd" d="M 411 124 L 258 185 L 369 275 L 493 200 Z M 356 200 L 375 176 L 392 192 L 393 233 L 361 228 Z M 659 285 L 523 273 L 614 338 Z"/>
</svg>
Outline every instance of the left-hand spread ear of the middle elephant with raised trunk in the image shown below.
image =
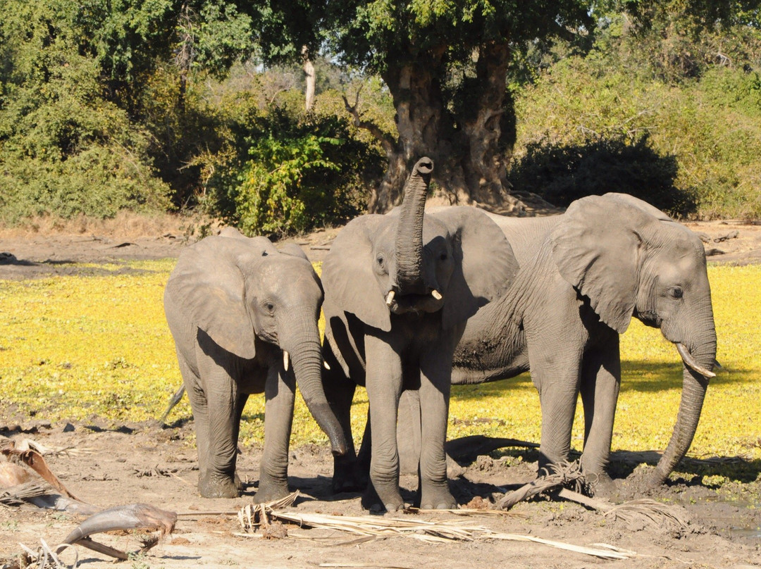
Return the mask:
<svg viewBox="0 0 761 569">
<path fill-rule="evenodd" d="M 346 224 L 323 261 L 325 305 L 352 313 L 388 332 L 391 318 L 373 273 L 373 235 L 385 215 L 361 215 Z"/>
</svg>

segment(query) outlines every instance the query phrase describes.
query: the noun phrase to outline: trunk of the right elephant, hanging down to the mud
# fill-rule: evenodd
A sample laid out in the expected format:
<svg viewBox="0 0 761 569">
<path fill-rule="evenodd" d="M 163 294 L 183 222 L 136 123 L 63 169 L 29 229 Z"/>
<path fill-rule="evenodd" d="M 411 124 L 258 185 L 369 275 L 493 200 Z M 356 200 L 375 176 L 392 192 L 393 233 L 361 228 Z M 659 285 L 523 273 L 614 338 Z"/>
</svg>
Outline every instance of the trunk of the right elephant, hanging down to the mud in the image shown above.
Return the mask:
<svg viewBox="0 0 761 569">
<path fill-rule="evenodd" d="M 709 331 L 700 342 L 692 345 L 676 342 L 677 350 L 683 359 L 682 398 L 671 439 L 648 480 L 648 485 L 651 487 L 666 481 L 677 463 L 686 455 L 695 437 L 705 399 L 705 390 L 708 389 L 708 381 L 715 375 L 712 368 L 716 357 L 716 332 L 712 315 L 710 324 Z"/>
</svg>

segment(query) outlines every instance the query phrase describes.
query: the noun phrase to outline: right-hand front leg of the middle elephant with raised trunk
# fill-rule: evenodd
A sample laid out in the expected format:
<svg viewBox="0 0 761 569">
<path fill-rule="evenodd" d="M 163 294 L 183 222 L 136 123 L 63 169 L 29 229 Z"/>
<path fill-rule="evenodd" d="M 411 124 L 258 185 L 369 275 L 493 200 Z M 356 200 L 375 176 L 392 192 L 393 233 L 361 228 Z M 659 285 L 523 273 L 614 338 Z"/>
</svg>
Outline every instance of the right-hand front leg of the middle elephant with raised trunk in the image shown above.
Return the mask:
<svg viewBox="0 0 761 569">
<path fill-rule="evenodd" d="M 420 507 L 457 507 L 447 482 L 447 440 L 452 353 L 431 351 L 420 362 Z"/>
</svg>

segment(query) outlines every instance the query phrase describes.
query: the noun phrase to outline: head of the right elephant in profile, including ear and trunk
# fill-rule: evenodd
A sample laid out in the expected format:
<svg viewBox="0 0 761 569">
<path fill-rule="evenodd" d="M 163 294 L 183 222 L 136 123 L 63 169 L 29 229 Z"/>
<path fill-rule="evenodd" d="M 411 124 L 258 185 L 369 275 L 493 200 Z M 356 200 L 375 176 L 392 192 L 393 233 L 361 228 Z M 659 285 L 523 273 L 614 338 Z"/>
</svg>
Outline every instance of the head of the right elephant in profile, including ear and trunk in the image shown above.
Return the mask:
<svg viewBox="0 0 761 569">
<path fill-rule="evenodd" d="M 661 329 L 683 360 L 683 391 L 668 447 L 651 475 L 664 482 L 683 458 L 697 428 L 716 332 L 705 251 L 692 231 L 630 195 L 579 199 L 552 231 L 560 275 L 590 300 L 616 332 L 632 316 Z"/>
</svg>

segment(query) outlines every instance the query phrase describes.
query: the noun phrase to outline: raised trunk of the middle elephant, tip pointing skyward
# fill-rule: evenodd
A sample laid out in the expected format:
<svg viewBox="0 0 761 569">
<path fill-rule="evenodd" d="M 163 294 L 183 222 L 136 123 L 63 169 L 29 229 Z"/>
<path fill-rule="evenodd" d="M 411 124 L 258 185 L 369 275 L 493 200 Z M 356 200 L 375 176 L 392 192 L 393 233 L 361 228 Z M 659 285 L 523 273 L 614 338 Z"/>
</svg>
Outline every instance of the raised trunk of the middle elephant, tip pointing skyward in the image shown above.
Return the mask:
<svg viewBox="0 0 761 569">
<path fill-rule="evenodd" d="M 404 186 L 396 227 L 396 286 L 404 294 L 426 294 L 423 281 L 423 214 L 433 161 L 421 158 Z"/>
</svg>

